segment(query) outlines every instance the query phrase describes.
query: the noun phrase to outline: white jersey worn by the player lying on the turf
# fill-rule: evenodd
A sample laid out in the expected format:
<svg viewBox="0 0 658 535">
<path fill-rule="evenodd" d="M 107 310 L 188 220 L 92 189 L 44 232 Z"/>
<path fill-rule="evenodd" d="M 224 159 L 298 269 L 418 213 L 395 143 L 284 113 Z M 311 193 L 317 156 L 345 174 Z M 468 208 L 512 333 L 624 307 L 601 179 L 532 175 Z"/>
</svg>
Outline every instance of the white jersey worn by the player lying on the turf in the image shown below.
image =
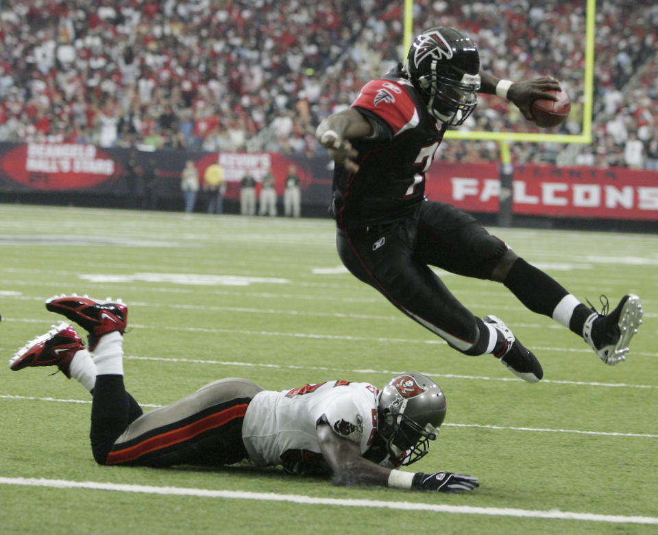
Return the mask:
<svg viewBox="0 0 658 535">
<path fill-rule="evenodd" d="M 377 393 L 369 383 L 328 381 L 293 390 L 264 390 L 249 402 L 242 437 L 257 466 L 321 461 L 315 427 L 326 417 L 339 436 L 365 453 L 377 429 Z"/>
</svg>

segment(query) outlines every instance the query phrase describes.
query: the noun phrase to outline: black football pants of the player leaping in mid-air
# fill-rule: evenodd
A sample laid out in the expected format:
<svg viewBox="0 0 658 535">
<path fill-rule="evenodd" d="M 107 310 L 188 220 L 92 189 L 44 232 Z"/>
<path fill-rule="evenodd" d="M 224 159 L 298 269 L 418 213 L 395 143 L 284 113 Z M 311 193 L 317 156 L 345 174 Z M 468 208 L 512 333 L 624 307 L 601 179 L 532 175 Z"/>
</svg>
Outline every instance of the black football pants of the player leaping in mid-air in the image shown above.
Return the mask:
<svg viewBox="0 0 658 535">
<path fill-rule="evenodd" d="M 430 201 L 395 223 L 338 229 L 337 247 L 343 264 L 358 279 L 464 353 L 470 353 L 478 341 L 481 320 L 429 266 L 489 279 L 508 249 L 470 214 Z"/>
</svg>

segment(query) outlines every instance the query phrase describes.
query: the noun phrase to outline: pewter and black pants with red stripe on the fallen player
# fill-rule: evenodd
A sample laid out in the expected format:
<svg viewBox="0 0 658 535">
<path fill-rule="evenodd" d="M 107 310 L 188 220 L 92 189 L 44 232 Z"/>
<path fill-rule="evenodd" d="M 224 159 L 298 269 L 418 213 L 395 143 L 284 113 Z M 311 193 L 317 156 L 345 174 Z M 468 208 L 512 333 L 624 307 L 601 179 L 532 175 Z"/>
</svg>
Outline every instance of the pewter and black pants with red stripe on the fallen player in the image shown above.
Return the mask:
<svg viewBox="0 0 658 535">
<path fill-rule="evenodd" d="M 221 466 L 248 457 L 242 423 L 260 386 L 233 377 L 142 414 L 122 375 L 98 375 L 91 445 L 99 464 Z"/>
</svg>

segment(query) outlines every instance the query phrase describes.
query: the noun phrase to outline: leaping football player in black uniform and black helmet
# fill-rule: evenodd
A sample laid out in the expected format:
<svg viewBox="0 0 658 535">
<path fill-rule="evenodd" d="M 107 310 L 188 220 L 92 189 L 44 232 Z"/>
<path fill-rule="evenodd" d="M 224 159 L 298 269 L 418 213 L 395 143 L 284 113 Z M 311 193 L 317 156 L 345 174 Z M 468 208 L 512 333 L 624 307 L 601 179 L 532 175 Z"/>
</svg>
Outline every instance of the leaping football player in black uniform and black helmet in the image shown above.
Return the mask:
<svg viewBox="0 0 658 535">
<path fill-rule="evenodd" d="M 642 323 L 626 295 L 610 314 L 585 306 L 491 236 L 469 214 L 424 197 L 425 172 L 450 126 L 473 112 L 478 92 L 509 99 L 532 121 L 535 99 L 556 98 L 551 77 L 526 82 L 480 71 L 474 42 L 454 28 L 419 34 L 404 64 L 365 84 L 351 107 L 328 116 L 317 139 L 336 164 L 330 211 L 343 264 L 411 319 L 467 355 L 492 353 L 528 382 L 541 365 L 496 316 L 467 310 L 429 266 L 502 282 L 533 312 L 571 329 L 606 364 L 625 360 Z"/>
</svg>

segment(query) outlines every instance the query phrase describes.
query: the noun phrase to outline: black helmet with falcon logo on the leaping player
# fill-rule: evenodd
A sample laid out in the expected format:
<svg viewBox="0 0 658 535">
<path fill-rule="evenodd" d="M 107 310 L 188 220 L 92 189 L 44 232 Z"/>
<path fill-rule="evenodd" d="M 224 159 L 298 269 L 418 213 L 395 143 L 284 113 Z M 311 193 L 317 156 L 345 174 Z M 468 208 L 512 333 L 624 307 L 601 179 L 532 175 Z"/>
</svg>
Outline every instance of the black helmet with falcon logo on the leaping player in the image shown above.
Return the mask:
<svg viewBox="0 0 658 535">
<path fill-rule="evenodd" d="M 472 114 L 480 55 L 470 38 L 450 27 L 426 29 L 413 41 L 403 67 L 437 121 L 458 126 Z"/>
</svg>

